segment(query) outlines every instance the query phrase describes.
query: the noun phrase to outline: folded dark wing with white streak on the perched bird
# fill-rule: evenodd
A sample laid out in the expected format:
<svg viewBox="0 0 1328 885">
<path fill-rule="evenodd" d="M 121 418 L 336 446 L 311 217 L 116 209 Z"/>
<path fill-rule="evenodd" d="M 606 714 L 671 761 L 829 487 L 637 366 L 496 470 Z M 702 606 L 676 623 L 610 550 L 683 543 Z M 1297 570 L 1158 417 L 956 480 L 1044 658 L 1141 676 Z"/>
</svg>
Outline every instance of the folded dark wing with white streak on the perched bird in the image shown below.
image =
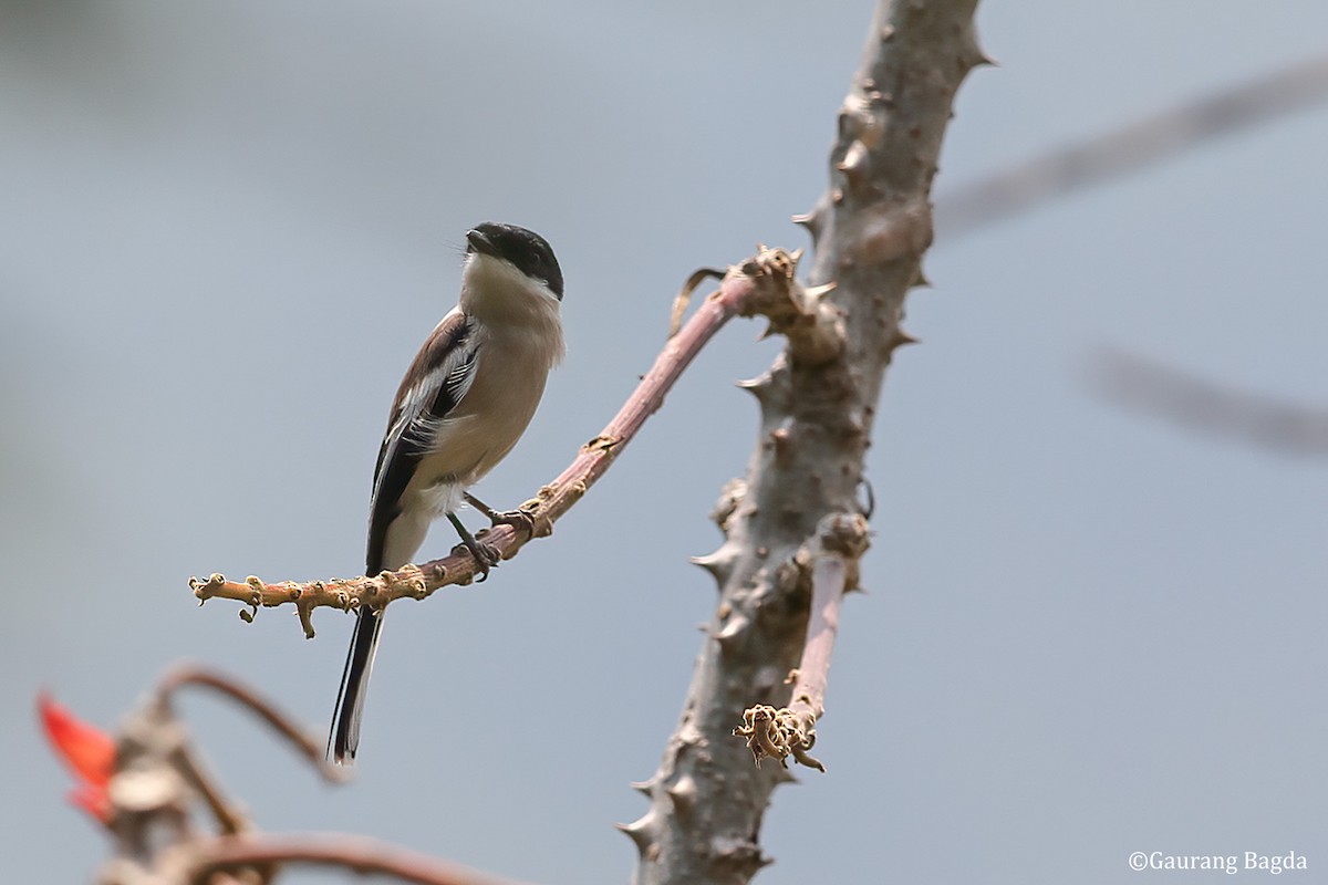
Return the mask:
<svg viewBox="0 0 1328 885">
<path fill-rule="evenodd" d="M 454 308 L 429 336 L 401 381 L 373 470 L 367 555 L 369 575 L 376 575 L 385 565 L 382 548 L 388 527 L 402 511 L 401 496 L 420 460 L 433 447 L 442 423 L 470 390 L 478 353 L 479 342 L 471 321 Z"/>
</svg>

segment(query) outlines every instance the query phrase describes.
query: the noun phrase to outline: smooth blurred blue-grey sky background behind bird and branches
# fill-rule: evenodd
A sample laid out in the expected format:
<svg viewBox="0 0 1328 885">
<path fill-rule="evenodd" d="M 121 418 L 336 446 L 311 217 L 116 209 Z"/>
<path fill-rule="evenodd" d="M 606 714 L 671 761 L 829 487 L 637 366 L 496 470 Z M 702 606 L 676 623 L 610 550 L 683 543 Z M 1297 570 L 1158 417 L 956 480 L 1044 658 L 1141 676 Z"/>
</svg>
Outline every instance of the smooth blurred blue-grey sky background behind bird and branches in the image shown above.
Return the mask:
<svg viewBox="0 0 1328 885">
<path fill-rule="evenodd" d="M 0 876 L 86 881 L 105 853 L 37 732 L 40 687 L 112 727 L 191 659 L 325 728 L 352 618 L 320 610 L 305 641 L 292 612 L 244 625 L 186 581 L 359 573 L 388 405 L 454 303 L 467 227 L 540 231 L 567 277 L 568 360 L 478 488 L 510 506 L 616 410 L 693 268 L 805 244 L 788 219 L 825 188 L 870 17 L 0 3 Z M 979 24 L 1001 64 L 960 93 L 942 202 L 1321 53 L 1328 7 L 1040 0 Z M 896 356 L 870 456 L 829 774 L 776 793 L 760 881 L 1118 882 L 1133 851 L 1328 865 L 1321 452 L 1090 381 L 1110 348 L 1323 403 L 1325 150 L 1309 107 L 981 228 L 940 215 L 934 288 L 908 301 L 923 344 Z M 714 602 L 687 559 L 717 545 L 706 512 L 753 444 L 732 382 L 777 352 L 757 332 L 720 336 L 552 541 L 393 606 L 352 785 L 187 703 L 262 827 L 627 881 L 611 824 L 644 809 L 627 783 L 655 770 Z M 540 746 L 533 722 L 566 731 Z"/>
</svg>

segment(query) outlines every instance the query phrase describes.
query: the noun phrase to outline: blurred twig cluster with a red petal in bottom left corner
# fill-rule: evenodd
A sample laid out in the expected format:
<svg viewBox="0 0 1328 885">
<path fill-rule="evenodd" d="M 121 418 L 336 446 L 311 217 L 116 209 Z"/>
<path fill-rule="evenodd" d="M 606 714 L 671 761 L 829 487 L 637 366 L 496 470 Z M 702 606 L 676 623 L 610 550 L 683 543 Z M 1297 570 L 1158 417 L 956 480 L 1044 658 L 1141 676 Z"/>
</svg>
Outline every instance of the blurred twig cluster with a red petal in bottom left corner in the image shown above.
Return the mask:
<svg viewBox="0 0 1328 885">
<path fill-rule="evenodd" d="M 114 738 L 78 722 L 46 697 L 42 726 L 80 782 L 70 799 L 110 833 L 113 856 L 98 872 L 104 885 L 266 885 L 296 865 L 380 873 L 421 885 L 506 885 L 506 880 L 428 858 L 359 836 L 268 836 L 255 832 L 240 804 L 208 772 L 173 701 L 185 687 L 218 693 L 254 713 L 329 783 L 344 770 L 323 759 L 320 738 L 247 686 L 181 667 L 167 674 Z M 206 812 L 215 832 L 197 825 Z"/>
</svg>

